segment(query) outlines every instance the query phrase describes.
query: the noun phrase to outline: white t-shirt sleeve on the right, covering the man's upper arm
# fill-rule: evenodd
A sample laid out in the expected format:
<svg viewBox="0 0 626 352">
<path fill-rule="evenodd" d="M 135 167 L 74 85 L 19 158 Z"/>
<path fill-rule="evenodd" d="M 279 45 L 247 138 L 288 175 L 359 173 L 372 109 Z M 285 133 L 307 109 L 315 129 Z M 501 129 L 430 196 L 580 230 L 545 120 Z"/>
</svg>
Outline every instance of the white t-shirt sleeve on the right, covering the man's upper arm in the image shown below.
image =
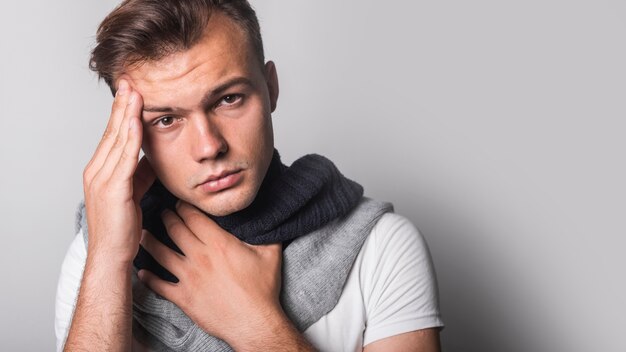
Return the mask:
<svg viewBox="0 0 626 352">
<path fill-rule="evenodd" d="M 426 241 L 398 214 L 385 214 L 368 241 L 361 270 L 363 345 L 405 332 L 443 327 L 437 280 Z"/>
</svg>

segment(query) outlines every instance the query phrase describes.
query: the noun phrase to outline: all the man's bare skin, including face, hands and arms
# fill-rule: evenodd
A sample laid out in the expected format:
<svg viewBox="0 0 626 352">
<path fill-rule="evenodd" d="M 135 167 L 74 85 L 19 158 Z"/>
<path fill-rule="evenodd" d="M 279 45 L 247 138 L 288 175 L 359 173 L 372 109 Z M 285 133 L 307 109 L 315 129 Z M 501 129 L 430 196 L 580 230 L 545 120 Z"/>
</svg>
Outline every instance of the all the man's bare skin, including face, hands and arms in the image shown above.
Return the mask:
<svg viewBox="0 0 626 352">
<path fill-rule="evenodd" d="M 116 87 L 109 124 L 83 175 L 90 240 L 66 350 L 142 349 L 131 336 L 139 243 L 180 281 L 146 270 L 140 279 L 235 350 L 313 350 L 279 303 L 281 245 L 243 243 L 202 213 L 241 210 L 259 190 L 274 147 L 274 64 L 260 65 L 245 34 L 216 14 L 197 45 L 128 67 Z M 224 173 L 231 176 L 206 182 Z M 141 230 L 138 202 L 155 177 L 181 199 L 162 217 L 184 256 Z M 438 341 L 429 329 L 364 351 L 438 351 Z"/>
</svg>

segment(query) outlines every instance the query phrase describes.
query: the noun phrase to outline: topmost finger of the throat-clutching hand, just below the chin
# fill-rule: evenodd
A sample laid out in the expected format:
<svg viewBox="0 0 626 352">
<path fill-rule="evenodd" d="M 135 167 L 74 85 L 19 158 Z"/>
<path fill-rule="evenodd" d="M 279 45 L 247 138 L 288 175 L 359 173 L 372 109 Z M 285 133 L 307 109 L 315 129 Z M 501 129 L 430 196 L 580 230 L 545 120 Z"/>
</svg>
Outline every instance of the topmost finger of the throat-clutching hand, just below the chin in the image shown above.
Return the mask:
<svg viewBox="0 0 626 352">
<path fill-rule="evenodd" d="M 209 244 L 216 240 L 230 241 L 236 239 L 236 237 L 222 229 L 198 208 L 185 201 L 181 200 L 176 203 L 176 212 L 189 230 L 204 244 Z"/>
</svg>

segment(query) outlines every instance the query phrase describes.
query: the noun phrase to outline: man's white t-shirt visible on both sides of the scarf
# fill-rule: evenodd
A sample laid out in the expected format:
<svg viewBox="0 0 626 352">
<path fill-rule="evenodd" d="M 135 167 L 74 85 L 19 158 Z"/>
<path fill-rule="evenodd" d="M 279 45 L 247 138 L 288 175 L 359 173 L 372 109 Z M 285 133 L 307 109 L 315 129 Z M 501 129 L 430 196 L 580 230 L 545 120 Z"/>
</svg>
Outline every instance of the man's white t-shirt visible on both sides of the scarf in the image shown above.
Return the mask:
<svg viewBox="0 0 626 352">
<path fill-rule="evenodd" d="M 86 258 L 79 232 L 57 287 L 57 351 L 67 338 Z M 432 327 L 443 322 L 428 247 L 410 221 L 387 213 L 365 240 L 335 308 L 304 335 L 320 351 L 362 351 L 370 342 Z"/>
</svg>

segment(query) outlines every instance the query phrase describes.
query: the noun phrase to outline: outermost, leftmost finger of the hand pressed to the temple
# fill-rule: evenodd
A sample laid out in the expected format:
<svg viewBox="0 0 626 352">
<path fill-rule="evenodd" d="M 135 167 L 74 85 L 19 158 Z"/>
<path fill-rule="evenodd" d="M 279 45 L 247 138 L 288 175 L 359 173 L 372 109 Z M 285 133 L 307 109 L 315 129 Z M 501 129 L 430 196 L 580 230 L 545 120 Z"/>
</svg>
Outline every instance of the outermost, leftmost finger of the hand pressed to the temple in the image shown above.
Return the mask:
<svg viewBox="0 0 626 352">
<path fill-rule="evenodd" d="M 98 147 L 96 148 L 96 152 L 93 157 L 87 164 L 88 168 L 92 168 L 94 170 L 100 170 L 104 160 L 107 155 L 115 139 L 117 138 L 117 134 L 120 128 L 120 124 L 124 118 L 124 111 L 126 110 L 126 106 L 128 105 L 128 98 L 130 92 L 130 85 L 126 80 L 120 80 L 118 83 L 118 89 L 115 93 L 115 99 L 113 100 L 113 106 L 111 107 L 111 115 L 109 117 L 109 121 L 104 130 L 102 138 L 98 143 Z"/>
</svg>

